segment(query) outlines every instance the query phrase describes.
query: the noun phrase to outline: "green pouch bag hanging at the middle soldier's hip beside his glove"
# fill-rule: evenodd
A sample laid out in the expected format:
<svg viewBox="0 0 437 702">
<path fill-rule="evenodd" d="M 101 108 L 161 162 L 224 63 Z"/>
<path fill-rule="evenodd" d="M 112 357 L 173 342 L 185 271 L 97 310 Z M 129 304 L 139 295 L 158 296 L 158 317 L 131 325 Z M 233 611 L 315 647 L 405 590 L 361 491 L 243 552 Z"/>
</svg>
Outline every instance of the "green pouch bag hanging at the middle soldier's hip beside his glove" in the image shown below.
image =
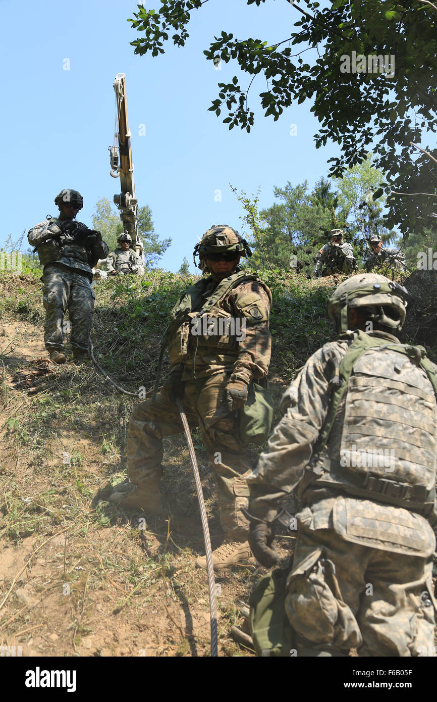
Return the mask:
<svg viewBox="0 0 437 702">
<path fill-rule="evenodd" d="M 240 436 L 243 444 L 262 444 L 270 433 L 274 402 L 269 390 L 250 383 L 248 399 L 240 411 Z"/>
</svg>

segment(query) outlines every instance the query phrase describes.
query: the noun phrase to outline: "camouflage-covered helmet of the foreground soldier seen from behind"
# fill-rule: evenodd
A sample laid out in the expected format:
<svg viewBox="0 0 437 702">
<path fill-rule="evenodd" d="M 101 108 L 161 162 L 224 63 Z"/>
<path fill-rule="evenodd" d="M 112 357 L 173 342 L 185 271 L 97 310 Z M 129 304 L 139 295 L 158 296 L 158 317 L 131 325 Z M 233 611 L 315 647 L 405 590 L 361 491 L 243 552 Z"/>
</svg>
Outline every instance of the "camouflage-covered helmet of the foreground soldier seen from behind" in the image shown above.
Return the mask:
<svg viewBox="0 0 437 702">
<path fill-rule="evenodd" d="M 359 273 L 348 278 L 330 297 L 328 312 L 338 331 L 347 331 L 347 312 L 352 307 L 368 307 L 375 324 L 400 331 L 405 322 L 408 290 L 377 273 Z"/>
</svg>

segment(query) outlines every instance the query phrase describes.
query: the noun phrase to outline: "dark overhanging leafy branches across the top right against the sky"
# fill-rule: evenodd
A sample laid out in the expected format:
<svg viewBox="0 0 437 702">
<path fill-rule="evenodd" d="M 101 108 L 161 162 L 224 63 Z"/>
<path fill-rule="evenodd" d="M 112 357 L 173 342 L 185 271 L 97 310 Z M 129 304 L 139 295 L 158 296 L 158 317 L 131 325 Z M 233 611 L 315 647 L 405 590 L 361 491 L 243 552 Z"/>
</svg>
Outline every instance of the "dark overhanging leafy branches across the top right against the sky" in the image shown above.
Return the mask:
<svg viewBox="0 0 437 702">
<path fill-rule="evenodd" d="M 264 1 L 246 3 L 260 6 Z M 140 33 L 131 42 L 135 53 L 163 53 L 172 28 L 173 43 L 184 46 L 191 12 L 203 4 L 201 0 L 161 0 L 157 11 L 139 5 L 135 19 L 128 20 Z M 436 131 L 436 25 L 437 12 L 431 3 L 403 6 L 394 0 L 334 0 L 321 8 L 313 0 L 302 0 L 299 6 L 290 2 L 290 29 L 295 31 L 278 44 L 270 46 L 253 37 L 238 39 L 227 32 L 210 42 L 203 52 L 207 60 L 234 60 L 250 81 L 246 88 L 236 77 L 219 84 L 209 110 L 220 116 L 225 107 L 223 121 L 229 129 L 240 126 L 250 131 L 254 112 L 248 92 L 257 76 L 266 81 L 259 93 L 265 117 L 276 121 L 294 102 L 311 100 L 311 111 L 321 124 L 314 137 L 316 147 L 332 140 L 342 150 L 340 157 L 330 159 L 329 175 L 341 177 L 347 168 L 364 161 L 370 145 L 375 145 L 375 165 L 386 174 L 385 226 L 391 230 L 398 225 L 403 233 L 419 230 L 429 225 L 435 201 L 398 192 L 432 192 L 437 185 L 429 157 L 410 146 Z M 307 62 L 302 58 L 304 51 L 309 51 Z M 365 69 L 362 64 L 352 69 L 349 62 L 347 70 L 344 57 L 352 60 L 353 52 L 355 58 L 363 55 Z M 387 70 L 380 70 L 384 57 Z M 437 150 L 431 153 L 436 156 Z"/>
</svg>

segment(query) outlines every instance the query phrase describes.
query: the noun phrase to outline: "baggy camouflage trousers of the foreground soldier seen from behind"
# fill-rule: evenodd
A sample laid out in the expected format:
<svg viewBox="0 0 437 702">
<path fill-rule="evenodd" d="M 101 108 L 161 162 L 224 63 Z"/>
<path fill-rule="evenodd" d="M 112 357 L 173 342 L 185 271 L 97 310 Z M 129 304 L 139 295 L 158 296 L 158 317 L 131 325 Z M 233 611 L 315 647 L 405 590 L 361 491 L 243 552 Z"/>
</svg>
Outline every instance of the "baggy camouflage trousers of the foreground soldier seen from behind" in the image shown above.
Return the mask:
<svg viewBox="0 0 437 702">
<path fill-rule="evenodd" d="M 431 559 L 310 529 L 309 512 L 298 522 L 285 597 L 297 656 L 347 656 L 351 648 L 360 656 L 435 655 Z"/>
</svg>

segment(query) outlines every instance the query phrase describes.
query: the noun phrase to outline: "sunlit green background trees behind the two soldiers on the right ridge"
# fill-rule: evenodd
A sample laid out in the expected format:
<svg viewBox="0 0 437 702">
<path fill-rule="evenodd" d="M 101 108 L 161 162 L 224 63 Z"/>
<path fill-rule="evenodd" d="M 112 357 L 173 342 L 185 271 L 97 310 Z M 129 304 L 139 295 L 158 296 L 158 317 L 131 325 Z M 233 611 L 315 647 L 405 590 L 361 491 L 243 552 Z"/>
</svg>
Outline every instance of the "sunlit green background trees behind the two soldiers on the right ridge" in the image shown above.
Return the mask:
<svg viewBox="0 0 437 702">
<path fill-rule="evenodd" d="M 335 228 L 344 230 L 345 241 L 351 242 L 358 263 L 362 262 L 370 253 L 364 239 L 372 234 L 380 234 L 384 242 L 394 237 L 382 220 L 385 198 L 382 194 L 372 198 L 382 178 L 369 156 L 344 178 L 320 178 L 311 192 L 307 181 L 275 187 L 277 201 L 260 212 L 259 191 L 250 198 L 231 187 L 246 213 L 243 223 L 250 227 L 250 267 L 258 272 L 276 270 L 277 274 L 294 269 L 308 277 L 314 271 L 318 251 L 330 241 L 330 230 Z"/>
</svg>

